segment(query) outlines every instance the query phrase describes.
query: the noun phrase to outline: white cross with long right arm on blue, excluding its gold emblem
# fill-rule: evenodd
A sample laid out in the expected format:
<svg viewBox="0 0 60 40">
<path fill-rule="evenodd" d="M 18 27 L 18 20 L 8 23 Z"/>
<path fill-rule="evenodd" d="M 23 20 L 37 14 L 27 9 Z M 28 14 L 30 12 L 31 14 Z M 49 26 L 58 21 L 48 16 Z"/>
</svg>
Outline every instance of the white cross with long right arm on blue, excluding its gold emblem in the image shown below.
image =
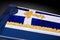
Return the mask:
<svg viewBox="0 0 60 40">
<path fill-rule="evenodd" d="M 29 11 L 33 11 L 33 14 L 38 14 L 38 13 L 35 13 L 36 10 L 29 10 Z M 41 18 L 38 18 L 36 16 L 31 16 L 31 18 L 27 18 L 26 15 L 24 15 L 24 13 L 27 12 L 27 11 L 23 11 L 23 10 L 20 10 L 18 9 L 18 12 L 15 14 L 16 16 L 24 16 L 25 19 L 24 19 L 24 24 L 29 24 L 31 25 L 31 20 L 32 18 L 36 18 L 36 19 L 41 19 Z M 43 12 L 44 13 L 44 12 Z M 39 14 L 38 14 L 39 15 Z M 41 19 L 41 20 L 46 20 L 46 21 L 52 21 L 52 22 L 57 22 L 57 23 L 60 23 L 60 18 L 59 17 L 55 17 L 55 16 L 50 16 L 50 15 L 45 15 L 45 14 L 42 14 L 45 16 L 45 18 Z"/>
</svg>

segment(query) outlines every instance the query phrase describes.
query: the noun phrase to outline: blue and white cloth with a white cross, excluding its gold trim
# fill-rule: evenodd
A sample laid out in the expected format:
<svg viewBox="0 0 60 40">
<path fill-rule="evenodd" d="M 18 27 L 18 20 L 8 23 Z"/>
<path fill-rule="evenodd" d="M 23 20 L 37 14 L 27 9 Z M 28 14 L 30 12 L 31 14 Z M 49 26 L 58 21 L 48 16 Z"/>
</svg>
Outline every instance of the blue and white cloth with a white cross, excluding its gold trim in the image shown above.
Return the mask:
<svg viewBox="0 0 60 40">
<path fill-rule="evenodd" d="M 23 25 L 28 24 L 39 27 L 44 26 L 46 28 L 60 30 L 60 15 L 34 10 L 34 9 L 28 9 L 19 6 L 16 6 L 16 10 L 17 12 L 13 15 L 10 15 L 7 22 L 21 23 Z M 35 16 L 32 15 L 30 18 L 27 18 L 25 13 L 29 11 L 32 11 L 33 14 L 36 15 Z M 37 15 L 44 16 L 44 18 L 38 17 Z M 0 36 L 10 39 L 23 39 L 23 40 L 46 40 L 46 39 L 58 40 L 60 39 L 60 32 L 38 30 L 33 28 L 6 24 L 4 31 L 1 33 Z"/>
</svg>

